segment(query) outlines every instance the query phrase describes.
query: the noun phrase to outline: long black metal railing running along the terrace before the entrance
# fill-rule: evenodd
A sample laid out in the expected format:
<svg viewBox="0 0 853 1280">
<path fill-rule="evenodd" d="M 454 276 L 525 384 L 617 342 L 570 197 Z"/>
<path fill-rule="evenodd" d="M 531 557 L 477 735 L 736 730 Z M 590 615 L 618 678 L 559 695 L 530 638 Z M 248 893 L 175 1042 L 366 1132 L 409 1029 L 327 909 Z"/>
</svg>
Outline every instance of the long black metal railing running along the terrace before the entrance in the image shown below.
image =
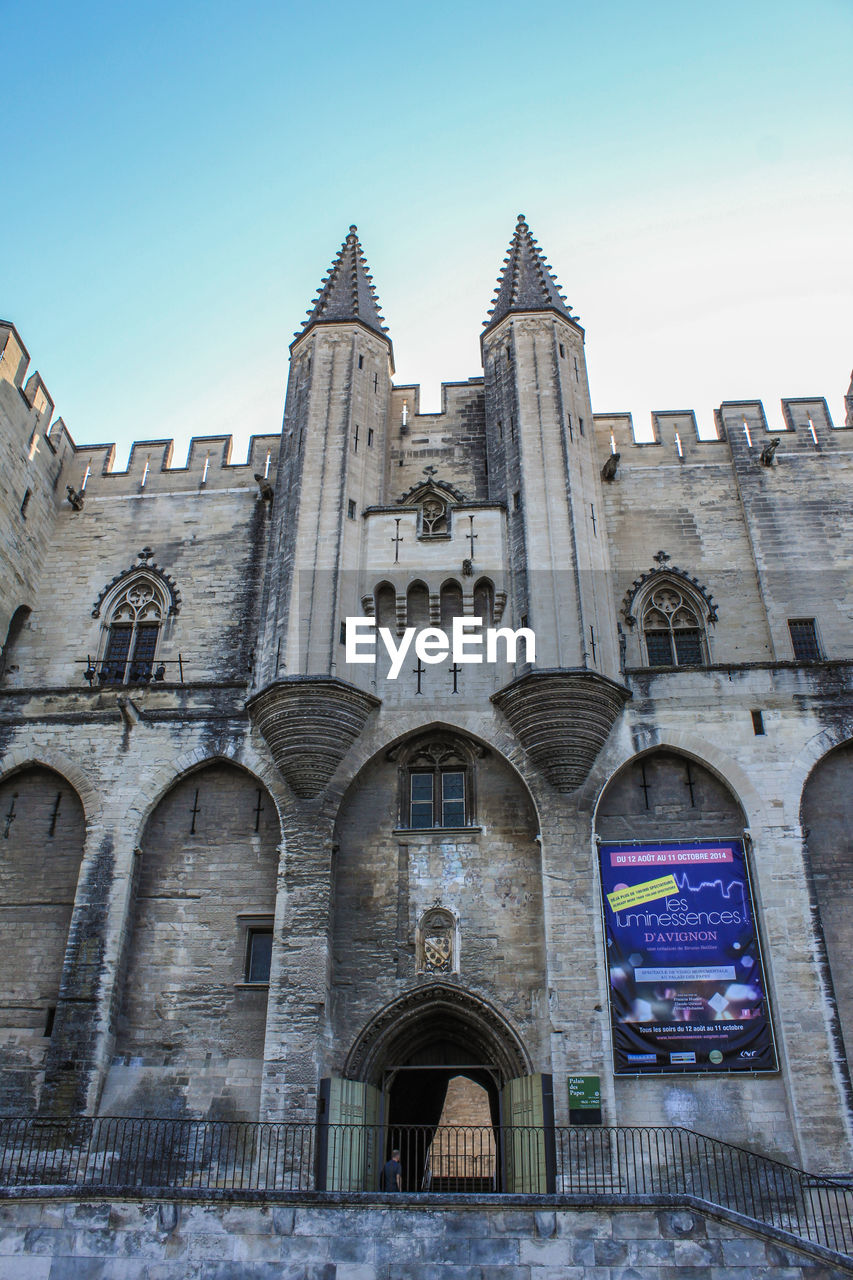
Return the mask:
<svg viewBox="0 0 853 1280">
<path fill-rule="evenodd" d="M 695 1197 L 853 1256 L 853 1189 L 689 1129 L 0 1119 L 0 1188 L 231 1196 L 405 1192 Z M 546 1158 L 546 1151 L 553 1158 Z"/>
</svg>

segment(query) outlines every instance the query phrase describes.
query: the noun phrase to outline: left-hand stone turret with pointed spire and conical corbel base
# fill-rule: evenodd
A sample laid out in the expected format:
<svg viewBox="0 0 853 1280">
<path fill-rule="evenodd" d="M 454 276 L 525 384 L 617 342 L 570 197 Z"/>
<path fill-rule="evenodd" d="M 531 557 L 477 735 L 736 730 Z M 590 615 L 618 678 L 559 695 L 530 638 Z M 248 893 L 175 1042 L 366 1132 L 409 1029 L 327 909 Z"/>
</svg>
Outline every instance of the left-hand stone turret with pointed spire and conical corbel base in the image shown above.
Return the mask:
<svg viewBox="0 0 853 1280">
<path fill-rule="evenodd" d="M 324 788 L 377 705 L 336 669 L 341 625 L 360 612 L 359 521 L 380 498 L 392 374 L 391 340 L 351 227 L 291 346 L 250 700 L 302 797 Z"/>
</svg>

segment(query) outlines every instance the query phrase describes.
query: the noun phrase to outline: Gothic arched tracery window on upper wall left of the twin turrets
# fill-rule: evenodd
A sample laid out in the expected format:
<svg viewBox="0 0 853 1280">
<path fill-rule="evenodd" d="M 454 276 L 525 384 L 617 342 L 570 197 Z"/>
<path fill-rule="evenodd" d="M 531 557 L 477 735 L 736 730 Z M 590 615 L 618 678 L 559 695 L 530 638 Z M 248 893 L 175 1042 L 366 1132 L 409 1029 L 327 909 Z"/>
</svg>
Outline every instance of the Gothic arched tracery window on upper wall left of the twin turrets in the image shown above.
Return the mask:
<svg viewBox="0 0 853 1280">
<path fill-rule="evenodd" d="M 99 667 L 102 685 L 163 678 L 160 668 L 154 671 L 154 659 L 168 612 L 163 588 L 154 577 L 140 575 L 122 585 L 105 609 L 104 655 Z"/>
</svg>

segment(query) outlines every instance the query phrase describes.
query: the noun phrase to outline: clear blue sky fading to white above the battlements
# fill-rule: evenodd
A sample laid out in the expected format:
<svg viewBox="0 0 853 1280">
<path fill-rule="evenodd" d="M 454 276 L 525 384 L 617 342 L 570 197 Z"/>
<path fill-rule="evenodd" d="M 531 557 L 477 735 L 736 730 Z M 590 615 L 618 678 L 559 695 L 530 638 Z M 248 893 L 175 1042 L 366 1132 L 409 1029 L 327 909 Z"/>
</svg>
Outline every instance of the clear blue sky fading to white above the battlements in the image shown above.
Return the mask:
<svg viewBox="0 0 853 1280">
<path fill-rule="evenodd" d="M 280 426 L 359 224 L 398 381 L 480 372 L 523 211 L 593 406 L 824 394 L 853 364 L 850 0 L 0 4 L 0 315 L 78 443 Z"/>
</svg>

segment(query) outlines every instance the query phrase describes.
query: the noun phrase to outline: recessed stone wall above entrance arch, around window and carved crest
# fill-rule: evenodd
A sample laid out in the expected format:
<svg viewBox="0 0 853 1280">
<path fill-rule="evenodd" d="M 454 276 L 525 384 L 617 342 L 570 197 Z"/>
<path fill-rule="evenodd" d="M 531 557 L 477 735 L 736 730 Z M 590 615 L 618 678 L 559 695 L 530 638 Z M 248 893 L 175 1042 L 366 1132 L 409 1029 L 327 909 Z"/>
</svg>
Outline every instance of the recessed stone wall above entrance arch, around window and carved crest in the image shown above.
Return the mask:
<svg viewBox="0 0 853 1280">
<path fill-rule="evenodd" d="M 448 735 L 439 740 L 453 741 Z M 532 1057 L 542 1059 L 546 947 L 537 817 L 517 777 L 496 755 L 476 759 L 467 783 L 476 797 L 470 831 L 406 829 L 401 771 L 384 758 L 359 776 L 342 805 L 336 826 L 333 1071 L 341 1070 L 365 1023 L 419 980 L 415 929 L 437 900 L 461 922 L 453 980 L 496 1001 Z"/>
</svg>

